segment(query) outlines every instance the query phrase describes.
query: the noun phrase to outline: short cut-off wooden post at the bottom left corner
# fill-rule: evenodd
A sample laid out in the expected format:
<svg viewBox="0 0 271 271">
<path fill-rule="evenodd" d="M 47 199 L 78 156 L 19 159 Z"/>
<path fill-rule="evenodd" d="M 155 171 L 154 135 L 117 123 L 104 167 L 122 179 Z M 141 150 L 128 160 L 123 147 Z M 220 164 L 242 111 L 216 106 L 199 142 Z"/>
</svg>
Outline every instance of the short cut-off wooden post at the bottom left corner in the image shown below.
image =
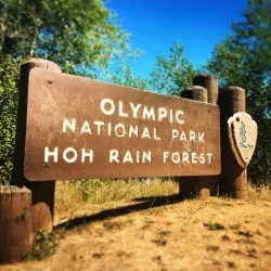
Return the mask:
<svg viewBox="0 0 271 271">
<path fill-rule="evenodd" d="M 31 247 L 31 192 L 0 186 L 0 263 L 18 261 Z"/>
</svg>

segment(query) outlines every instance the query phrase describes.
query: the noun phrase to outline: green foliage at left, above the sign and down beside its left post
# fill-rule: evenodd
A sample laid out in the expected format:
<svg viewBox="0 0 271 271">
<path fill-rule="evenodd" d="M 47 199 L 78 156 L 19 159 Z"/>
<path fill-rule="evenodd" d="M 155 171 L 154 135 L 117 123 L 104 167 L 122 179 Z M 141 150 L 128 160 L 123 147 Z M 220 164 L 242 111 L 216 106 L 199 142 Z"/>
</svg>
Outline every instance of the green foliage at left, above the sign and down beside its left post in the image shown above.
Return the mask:
<svg viewBox="0 0 271 271">
<path fill-rule="evenodd" d="M 133 52 L 101 0 L 0 0 L 0 178 L 9 180 L 20 64 L 49 59 L 63 72 L 93 78 Z"/>
</svg>

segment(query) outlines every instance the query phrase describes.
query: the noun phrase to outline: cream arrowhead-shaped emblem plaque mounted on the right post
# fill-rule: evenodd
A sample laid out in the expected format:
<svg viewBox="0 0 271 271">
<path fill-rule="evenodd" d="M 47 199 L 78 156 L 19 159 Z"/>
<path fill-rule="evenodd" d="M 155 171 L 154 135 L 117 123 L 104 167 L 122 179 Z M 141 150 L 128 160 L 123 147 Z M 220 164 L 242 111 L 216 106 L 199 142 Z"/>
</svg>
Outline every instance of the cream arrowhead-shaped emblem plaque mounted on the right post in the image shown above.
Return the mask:
<svg viewBox="0 0 271 271">
<path fill-rule="evenodd" d="M 246 168 L 257 142 L 258 127 L 247 113 L 235 113 L 228 120 L 230 144 L 238 165 Z"/>
</svg>

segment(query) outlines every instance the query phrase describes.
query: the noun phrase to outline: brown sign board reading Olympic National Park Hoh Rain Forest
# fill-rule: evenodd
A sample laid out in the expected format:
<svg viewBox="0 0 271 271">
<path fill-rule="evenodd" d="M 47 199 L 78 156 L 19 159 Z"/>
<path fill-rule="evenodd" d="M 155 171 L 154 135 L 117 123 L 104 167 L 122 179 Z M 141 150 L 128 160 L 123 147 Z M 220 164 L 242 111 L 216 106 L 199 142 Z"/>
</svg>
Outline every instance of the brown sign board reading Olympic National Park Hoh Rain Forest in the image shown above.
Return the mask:
<svg viewBox="0 0 271 271">
<path fill-rule="evenodd" d="M 220 173 L 217 105 L 33 68 L 30 181 Z"/>
</svg>

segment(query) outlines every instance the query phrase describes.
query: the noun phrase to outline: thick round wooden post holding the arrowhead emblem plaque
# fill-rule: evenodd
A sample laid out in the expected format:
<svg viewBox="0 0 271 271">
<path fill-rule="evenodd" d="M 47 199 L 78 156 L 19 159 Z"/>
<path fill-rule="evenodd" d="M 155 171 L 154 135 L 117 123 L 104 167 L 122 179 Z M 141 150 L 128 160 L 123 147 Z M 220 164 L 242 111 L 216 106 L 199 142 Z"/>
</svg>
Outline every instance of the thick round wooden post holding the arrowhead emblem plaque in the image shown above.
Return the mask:
<svg viewBox="0 0 271 271">
<path fill-rule="evenodd" d="M 219 92 L 221 125 L 221 176 L 219 190 L 221 194 L 235 198 L 247 198 L 247 170 L 240 167 L 230 146 L 228 119 L 237 112 L 245 112 L 245 90 L 229 87 Z"/>
</svg>

